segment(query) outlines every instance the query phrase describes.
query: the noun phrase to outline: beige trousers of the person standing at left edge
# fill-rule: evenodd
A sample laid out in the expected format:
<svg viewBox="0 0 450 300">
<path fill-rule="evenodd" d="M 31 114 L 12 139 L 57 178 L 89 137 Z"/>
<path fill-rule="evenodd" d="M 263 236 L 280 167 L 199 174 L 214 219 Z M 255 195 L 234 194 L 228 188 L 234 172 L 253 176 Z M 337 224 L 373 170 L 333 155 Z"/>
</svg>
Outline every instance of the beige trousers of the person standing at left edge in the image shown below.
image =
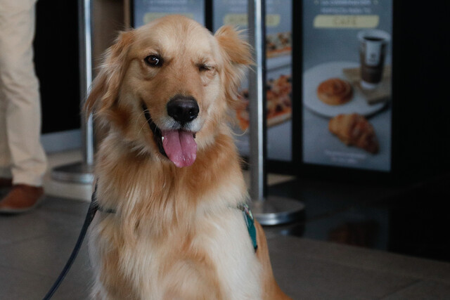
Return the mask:
<svg viewBox="0 0 450 300">
<path fill-rule="evenodd" d="M 34 72 L 35 0 L 0 0 L 0 176 L 42 185 L 39 81 Z"/>
</svg>

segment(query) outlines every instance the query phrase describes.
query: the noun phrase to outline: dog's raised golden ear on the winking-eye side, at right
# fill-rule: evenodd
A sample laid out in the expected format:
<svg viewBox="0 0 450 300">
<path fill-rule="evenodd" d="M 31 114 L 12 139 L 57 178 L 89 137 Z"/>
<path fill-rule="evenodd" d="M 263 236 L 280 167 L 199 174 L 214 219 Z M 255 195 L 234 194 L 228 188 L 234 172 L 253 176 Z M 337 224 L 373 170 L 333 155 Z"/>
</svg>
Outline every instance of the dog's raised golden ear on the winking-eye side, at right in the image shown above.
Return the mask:
<svg viewBox="0 0 450 300">
<path fill-rule="evenodd" d="M 242 37 L 242 32 L 225 25 L 217 30 L 214 37 L 219 43 L 224 58 L 224 81 L 226 99 L 231 107 L 238 105 L 238 88 L 248 66 L 253 64 L 250 45 Z"/>
</svg>

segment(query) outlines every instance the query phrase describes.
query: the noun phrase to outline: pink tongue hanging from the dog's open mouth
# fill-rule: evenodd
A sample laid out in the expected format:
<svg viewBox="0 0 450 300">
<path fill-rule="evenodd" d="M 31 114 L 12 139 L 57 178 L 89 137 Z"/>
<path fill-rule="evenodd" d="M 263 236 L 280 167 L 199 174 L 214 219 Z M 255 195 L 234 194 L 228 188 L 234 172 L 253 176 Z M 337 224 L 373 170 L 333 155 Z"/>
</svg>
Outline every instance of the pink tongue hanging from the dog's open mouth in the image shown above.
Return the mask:
<svg viewBox="0 0 450 300">
<path fill-rule="evenodd" d="M 162 131 L 162 147 L 176 167 L 188 167 L 197 157 L 197 143 L 193 133 L 181 130 Z"/>
</svg>

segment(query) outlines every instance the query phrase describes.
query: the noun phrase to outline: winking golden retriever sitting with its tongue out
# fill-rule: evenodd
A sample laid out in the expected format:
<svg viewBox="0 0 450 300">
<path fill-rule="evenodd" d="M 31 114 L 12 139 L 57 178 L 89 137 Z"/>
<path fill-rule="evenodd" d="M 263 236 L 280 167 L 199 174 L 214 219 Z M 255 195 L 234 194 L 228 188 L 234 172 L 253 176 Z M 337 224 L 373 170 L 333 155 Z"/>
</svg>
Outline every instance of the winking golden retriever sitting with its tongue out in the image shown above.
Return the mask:
<svg viewBox="0 0 450 300">
<path fill-rule="evenodd" d="M 108 49 L 86 100 L 108 131 L 89 233 L 94 299 L 288 299 L 262 227 L 255 251 L 240 208 L 248 193 L 227 111 L 251 63 L 232 27 L 213 35 L 181 15 Z"/>
</svg>

